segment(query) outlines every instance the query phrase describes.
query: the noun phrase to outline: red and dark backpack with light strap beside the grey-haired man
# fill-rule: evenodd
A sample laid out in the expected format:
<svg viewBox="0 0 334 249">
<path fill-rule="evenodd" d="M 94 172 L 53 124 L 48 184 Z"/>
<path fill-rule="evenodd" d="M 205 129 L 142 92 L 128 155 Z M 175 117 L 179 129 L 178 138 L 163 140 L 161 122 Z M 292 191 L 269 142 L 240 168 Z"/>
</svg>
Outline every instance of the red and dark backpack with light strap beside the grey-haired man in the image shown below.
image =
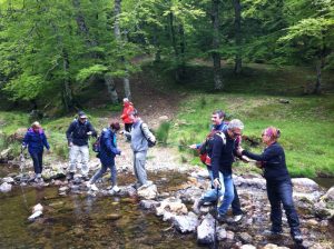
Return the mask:
<svg viewBox="0 0 334 249">
<path fill-rule="evenodd" d="M 225 133 L 220 130 L 213 130 L 206 136 L 205 141 L 202 143 L 200 148 L 198 149 L 199 159 L 206 166 L 212 166 L 212 158 L 209 157 L 209 155 L 213 151 L 213 142 L 214 142 L 215 135 L 222 138 L 223 145 L 226 145 Z"/>
</svg>

